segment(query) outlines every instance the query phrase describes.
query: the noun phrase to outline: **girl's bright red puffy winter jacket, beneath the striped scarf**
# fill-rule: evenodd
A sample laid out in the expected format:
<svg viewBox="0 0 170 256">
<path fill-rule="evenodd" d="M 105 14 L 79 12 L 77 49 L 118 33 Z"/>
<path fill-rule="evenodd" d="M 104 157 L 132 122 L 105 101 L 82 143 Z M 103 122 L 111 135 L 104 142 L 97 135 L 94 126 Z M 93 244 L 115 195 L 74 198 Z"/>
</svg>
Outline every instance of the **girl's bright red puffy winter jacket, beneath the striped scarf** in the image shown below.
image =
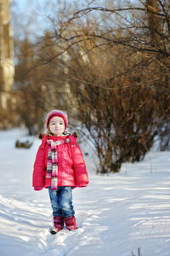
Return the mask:
<svg viewBox="0 0 170 256">
<path fill-rule="evenodd" d="M 51 186 L 51 178 L 46 177 L 48 162 L 48 139 L 54 142 L 70 139 L 70 143 L 57 146 L 58 186 L 86 187 L 88 172 L 82 157 L 82 151 L 77 144 L 77 138 L 72 135 L 65 137 L 42 136 L 42 144 L 38 148 L 33 171 L 33 187 L 36 190 Z"/>
</svg>

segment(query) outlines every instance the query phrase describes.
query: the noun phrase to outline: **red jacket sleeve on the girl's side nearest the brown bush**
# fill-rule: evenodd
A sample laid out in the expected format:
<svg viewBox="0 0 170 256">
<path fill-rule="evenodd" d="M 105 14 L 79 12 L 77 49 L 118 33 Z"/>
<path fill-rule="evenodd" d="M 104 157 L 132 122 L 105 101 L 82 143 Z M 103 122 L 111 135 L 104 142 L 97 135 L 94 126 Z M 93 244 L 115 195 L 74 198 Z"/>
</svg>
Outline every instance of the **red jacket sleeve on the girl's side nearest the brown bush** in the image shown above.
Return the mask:
<svg viewBox="0 0 170 256">
<path fill-rule="evenodd" d="M 88 181 L 88 172 L 86 169 L 85 161 L 83 160 L 82 151 L 77 143 L 71 145 L 72 147 L 72 161 L 73 168 L 75 171 L 75 177 L 78 187 L 87 187 Z"/>
</svg>

